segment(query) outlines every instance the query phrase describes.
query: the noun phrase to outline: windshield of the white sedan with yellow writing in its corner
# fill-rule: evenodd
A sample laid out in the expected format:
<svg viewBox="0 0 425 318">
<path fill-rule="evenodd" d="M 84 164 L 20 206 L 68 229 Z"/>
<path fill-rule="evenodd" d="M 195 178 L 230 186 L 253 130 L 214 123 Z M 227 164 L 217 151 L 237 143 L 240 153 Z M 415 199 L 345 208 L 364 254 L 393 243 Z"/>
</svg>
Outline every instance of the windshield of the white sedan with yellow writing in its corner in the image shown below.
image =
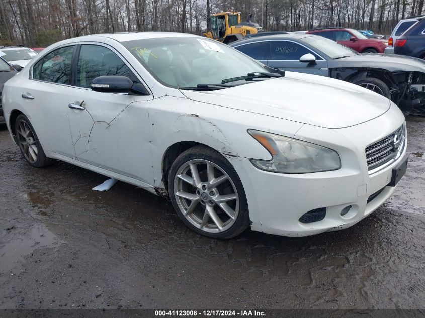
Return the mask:
<svg viewBox="0 0 425 318">
<path fill-rule="evenodd" d="M 169 87 L 219 84 L 224 79 L 270 70 L 227 45 L 203 38 L 140 39 L 121 44 L 153 77 Z"/>
</svg>

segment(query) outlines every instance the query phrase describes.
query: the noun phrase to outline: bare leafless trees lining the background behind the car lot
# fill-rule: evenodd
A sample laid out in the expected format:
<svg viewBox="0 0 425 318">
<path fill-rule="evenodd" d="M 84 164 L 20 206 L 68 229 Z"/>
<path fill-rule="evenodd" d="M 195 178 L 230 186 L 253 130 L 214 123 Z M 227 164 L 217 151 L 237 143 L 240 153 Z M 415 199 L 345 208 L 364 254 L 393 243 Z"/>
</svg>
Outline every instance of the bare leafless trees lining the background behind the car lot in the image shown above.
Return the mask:
<svg viewBox="0 0 425 318">
<path fill-rule="evenodd" d="M 202 34 L 208 17 L 238 11 L 268 31 L 341 26 L 389 34 L 421 15 L 424 0 L 1 0 L 0 45 L 45 47 L 87 34 L 172 31 Z"/>
</svg>

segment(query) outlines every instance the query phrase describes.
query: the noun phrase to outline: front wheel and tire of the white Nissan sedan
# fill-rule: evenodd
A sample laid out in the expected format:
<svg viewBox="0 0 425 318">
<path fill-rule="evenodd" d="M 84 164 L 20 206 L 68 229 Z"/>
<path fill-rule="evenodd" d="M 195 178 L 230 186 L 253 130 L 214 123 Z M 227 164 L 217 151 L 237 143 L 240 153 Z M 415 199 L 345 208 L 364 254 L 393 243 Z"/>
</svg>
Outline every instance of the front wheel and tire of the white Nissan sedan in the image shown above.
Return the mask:
<svg viewBox="0 0 425 318">
<path fill-rule="evenodd" d="M 227 159 L 211 148 L 195 146 L 177 157 L 168 192 L 180 219 L 197 233 L 228 239 L 249 225 L 242 183 Z"/>
</svg>

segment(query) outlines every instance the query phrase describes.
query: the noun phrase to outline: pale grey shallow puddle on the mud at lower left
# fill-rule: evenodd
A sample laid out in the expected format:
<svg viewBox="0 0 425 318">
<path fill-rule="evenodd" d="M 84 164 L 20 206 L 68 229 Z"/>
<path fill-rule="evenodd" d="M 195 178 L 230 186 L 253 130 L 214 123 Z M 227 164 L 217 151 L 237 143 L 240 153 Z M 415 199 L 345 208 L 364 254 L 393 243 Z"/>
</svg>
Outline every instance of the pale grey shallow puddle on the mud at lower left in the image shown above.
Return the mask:
<svg viewBox="0 0 425 318">
<path fill-rule="evenodd" d="M 11 231 L 18 231 L 12 229 Z M 59 241 L 56 235 L 44 225 L 37 224 L 22 234 L 17 232 L 16 238 L 8 241 L 0 248 L 0 273 L 9 272 L 34 250 L 52 246 Z"/>
</svg>

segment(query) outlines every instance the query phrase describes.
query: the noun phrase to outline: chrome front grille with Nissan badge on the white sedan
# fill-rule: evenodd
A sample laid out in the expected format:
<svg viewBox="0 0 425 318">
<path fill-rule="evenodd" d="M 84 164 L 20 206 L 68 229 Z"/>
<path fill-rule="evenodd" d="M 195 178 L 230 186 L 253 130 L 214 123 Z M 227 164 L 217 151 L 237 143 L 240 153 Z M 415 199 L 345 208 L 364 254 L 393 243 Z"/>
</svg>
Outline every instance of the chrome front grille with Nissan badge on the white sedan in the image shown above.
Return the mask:
<svg viewBox="0 0 425 318">
<path fill-rule="evenodd" d="M 397 138 L 395 137 L 397 136 Z M 368 170 L 375 169 L 393 159 L 404 146 L 404 128 L 366 147 Z"/>
</svg>

